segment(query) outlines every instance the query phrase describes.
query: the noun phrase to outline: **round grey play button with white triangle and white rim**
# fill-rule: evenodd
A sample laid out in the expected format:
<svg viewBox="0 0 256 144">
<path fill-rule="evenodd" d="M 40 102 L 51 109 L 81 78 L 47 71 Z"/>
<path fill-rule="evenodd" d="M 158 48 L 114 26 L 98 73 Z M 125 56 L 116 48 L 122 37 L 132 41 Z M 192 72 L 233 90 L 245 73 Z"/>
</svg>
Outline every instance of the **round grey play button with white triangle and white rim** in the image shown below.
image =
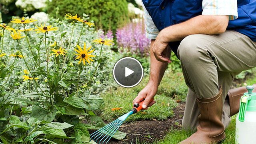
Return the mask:
<svg viewBox="0 0 256 144">
<path fill-rule="evenodd" d="M 142 80 L 143 68 L 135 58 L 121 58 L 114 66 L 113 75 L 120 86 L 131 88 Z"/>
</svg>

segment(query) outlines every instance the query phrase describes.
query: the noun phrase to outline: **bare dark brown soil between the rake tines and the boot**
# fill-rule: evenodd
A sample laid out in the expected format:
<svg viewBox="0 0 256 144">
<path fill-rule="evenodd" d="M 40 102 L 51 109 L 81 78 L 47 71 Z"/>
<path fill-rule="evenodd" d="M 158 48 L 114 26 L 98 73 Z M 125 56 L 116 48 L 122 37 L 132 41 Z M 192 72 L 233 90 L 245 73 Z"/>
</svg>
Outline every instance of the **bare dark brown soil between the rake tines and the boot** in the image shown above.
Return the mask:
<svg viewBox="0 0 256 144">
<path fill-rule="evenodd" d="M 180 103 L 178 107 L 174 108 L 174 116 L 164 121 L 142 120 L 123 124 L 119 130 L 125 132 L 127 136 L 120 141 L 111 139 L 108 144 L 136 144 L 136 140 L 137 142 L 139 140 L 140 144 L 144 142 L 150 144 L 155 140 L 163 139 L 171 128 L 181 128 L 184 108 L 185 103 Z"/>
</svg>

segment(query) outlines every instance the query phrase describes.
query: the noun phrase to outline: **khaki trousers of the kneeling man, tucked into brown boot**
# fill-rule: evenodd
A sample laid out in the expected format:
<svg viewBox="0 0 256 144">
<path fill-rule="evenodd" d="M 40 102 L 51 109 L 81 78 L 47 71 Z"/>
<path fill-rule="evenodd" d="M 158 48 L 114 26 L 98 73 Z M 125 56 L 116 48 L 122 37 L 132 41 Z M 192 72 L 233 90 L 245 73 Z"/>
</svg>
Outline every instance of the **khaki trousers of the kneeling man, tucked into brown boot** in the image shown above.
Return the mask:
<svg viewBox="0 0 256 144">
<path fill-rule="evenodd" d="M 226 95 L 237 74 L 256 66 L 256 42 L 234 30 L 218 35 L 194 34 L 182 40 L 178 57 L 189 88 L 182 127 L 194 130 L 198 125 L 196 96 L 211 98 L 222 86 L 222 122 L 227 128 L 231 118 Z"/>
</svg>

